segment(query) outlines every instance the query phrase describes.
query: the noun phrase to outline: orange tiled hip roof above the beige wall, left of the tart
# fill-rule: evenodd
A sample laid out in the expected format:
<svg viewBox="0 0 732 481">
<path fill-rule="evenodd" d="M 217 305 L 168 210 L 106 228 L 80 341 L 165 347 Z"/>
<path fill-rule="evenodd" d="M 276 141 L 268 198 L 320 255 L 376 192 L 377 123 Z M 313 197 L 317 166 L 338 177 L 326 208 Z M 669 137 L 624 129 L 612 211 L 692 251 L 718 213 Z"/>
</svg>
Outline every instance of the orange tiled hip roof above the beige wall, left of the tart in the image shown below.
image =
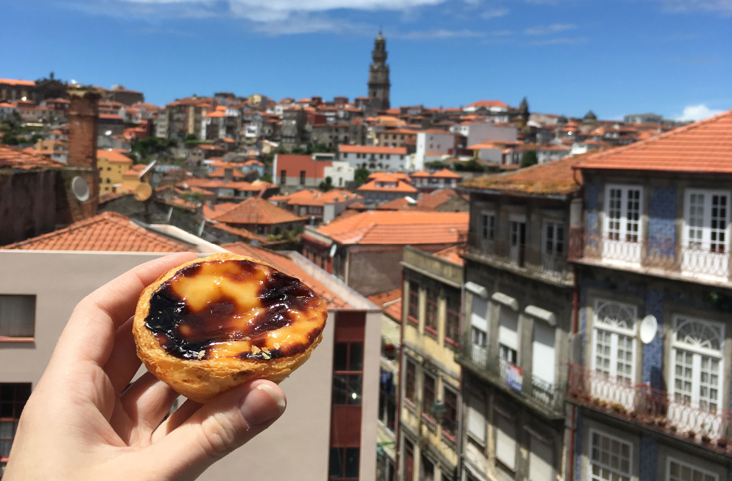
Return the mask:
<svg viewBox="0 0 732 481">
<path fill-rule="evenodd" d="M 72 223 L 58 231 L 26 239 L 2 249 L 23 250 L 104 250 L 112 252 L 179 252 L 194 250 L 137 225 L 129 217 L 116 212 L 102 212 Z"/>
</svg>

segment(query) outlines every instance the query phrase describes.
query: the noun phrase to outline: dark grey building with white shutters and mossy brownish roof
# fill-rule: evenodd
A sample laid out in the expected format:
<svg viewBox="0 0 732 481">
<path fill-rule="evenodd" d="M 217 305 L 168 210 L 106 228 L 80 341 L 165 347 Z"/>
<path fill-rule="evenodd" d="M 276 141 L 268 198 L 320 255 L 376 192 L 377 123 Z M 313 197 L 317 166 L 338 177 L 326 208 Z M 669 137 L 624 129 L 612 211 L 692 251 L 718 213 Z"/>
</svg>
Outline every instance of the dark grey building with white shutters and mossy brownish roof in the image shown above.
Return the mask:
<svg viewBox="0 0 732 481">
<path fill-rule="evenodd" d="M 471 204 L 457 357 L 463 481 L 565 476 L 565 366 L 575 286 L 567 232 L 580 191 L 575 162 L 463 184 Z"/>
</svg>

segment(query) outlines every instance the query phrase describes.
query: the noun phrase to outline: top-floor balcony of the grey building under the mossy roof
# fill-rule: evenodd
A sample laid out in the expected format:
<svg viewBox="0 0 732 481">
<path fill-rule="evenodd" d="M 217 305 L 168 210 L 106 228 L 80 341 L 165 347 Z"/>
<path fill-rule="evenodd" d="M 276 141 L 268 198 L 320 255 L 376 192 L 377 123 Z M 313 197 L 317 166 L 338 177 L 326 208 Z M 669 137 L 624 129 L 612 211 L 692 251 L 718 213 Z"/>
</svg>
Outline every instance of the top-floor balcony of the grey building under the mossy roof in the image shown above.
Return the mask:
<svg viewBox="0 0 732 481">
<path fill-rule="evenodd" d="M 507 241 L 485 239 L 477 233 L 460 234 L 463 255 L 491 266 L 512 270 L 542 280 L 573 285 L 574 275 L 564 253 L 548 253 L 540 246 L 510 245 Z"/>
</svg>

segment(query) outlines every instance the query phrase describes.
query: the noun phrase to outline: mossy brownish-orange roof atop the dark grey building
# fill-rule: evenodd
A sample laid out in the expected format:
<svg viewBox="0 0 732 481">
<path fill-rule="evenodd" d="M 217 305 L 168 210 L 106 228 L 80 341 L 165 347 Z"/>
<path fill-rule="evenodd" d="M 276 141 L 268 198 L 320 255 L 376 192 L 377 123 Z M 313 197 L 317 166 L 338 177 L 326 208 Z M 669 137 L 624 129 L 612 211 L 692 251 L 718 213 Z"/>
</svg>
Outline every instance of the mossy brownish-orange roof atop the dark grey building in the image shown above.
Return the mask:
<svg viewBox="0 0 732 481">
<path fill-rule="evenodd" d="M 585 157 L 575 155 L 520 168 L 518 171 L 476 177 L 469 182 L 463 182 L 463 186 L 498 190 L 501 193 L 567 195 L 580 188 L 582 176 L 577 173 L 577 182 L 575 182 L 575 172 L 572 167 L 582 158 Z M 509 165 L 500 167 L 507 168 Z"/>
</svg>

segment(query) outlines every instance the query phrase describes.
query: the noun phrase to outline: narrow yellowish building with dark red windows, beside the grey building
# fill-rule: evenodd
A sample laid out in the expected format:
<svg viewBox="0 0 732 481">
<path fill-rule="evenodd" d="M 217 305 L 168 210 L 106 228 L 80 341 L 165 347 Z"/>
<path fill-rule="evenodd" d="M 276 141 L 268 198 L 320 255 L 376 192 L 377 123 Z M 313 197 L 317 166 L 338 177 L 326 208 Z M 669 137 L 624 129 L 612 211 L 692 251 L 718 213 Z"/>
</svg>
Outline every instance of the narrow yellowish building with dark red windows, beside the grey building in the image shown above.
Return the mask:
<svg viewBox="0 0 732 481">
<path fill-rule="evenodd" d="M 400 481 L 456 481 L 463 260 L 457 247 L 403 256 Z"/>
</svg>

